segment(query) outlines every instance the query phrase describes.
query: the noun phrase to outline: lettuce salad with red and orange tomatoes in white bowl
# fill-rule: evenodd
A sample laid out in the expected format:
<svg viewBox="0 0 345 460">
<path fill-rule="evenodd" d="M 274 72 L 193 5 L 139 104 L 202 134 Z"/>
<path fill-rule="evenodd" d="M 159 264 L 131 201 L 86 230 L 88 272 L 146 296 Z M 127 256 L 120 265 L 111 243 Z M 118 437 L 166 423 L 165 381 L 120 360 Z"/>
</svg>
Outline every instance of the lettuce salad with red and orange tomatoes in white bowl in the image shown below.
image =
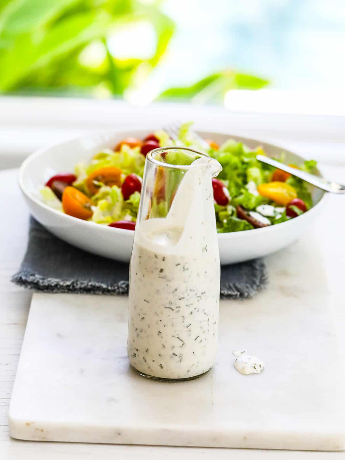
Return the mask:
<svg viewBox="0 0 345 460">
<path fill-rule="evenodd" d="M 140 200 L 145 156 L 158 147 L 189 147 L 217 159 L 223 170 L 213 178 L 218 233 L 253 230 L 299 217 L 313 207 L 308 184 L 256 159 L 262 146 L 249 148 L 232 138 L 219 144 L 198 142 L 191 123 L 180 127 L 178 138 L 163 130 L 144 138 L 126 137 L 103 148 L 74 171 L 54 174 L 40 187 L 40 200 L 77 219 L 124 230 L 134 230 Z M 280 161 L 286 160 L 284 152 Z M 290 166 L 312 172 L 316 161 Z"/>
</svg>

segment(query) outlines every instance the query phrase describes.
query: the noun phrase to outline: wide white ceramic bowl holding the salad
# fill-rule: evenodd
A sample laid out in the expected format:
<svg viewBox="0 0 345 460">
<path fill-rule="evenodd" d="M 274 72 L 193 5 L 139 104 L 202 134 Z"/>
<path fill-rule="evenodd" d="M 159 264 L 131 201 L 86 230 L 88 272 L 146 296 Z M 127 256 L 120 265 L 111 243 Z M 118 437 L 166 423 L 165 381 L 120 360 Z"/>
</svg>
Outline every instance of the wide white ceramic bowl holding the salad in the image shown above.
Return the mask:
<svg viewBox="0 0 345 460">
<path fill-rule="evenodd" d="M 199 132 L 203 138 L 212 138 L 219 144 L 234 138 L 251 148 L 262 145 L 266 154 L 277 157 L 282 148 L 253 139 L 230 134 Z M 56 173 L 73 172 L 75 164 L 87 161 L 102 148 L 113 148 L 121 139 L 133 136 L 144 138 L 147 130 L 115 131 L 97 133 L 64 142 L 30 155 L 19 171 L 19 185 L 32 215 L 47 230 L 64 241 L 90 253 L 128 262 L 131 256 L 133 235 L 131 230 L 111 228 L 76 219 L 46 206 L 39 199 L 38 190 Z M 302 163 L 304 158 L 284 149 L 287 163 Z M 311 186 L 314 207 L 298 218 L 262 229 L 223 233 L 218 235 L 221 264 L 242 262 L 273 253 L 295 241 L 313 224 L 322 211 L 325 192 Z"/>
</svg>

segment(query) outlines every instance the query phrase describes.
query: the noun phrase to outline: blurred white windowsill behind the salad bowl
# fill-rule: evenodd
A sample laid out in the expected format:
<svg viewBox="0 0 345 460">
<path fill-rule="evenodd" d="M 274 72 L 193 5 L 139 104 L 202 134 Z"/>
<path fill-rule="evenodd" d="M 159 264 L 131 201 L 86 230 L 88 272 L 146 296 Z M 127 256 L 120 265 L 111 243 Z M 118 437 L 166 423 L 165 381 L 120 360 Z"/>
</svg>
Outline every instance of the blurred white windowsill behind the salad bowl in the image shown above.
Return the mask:
<svg viewBox="0 0 345 460">
<path fill-rule="evenodd" d="M 229 96 L 227 105 L 231 103 L 232 109 L 176 102 L 135 107 L 121 100 L 3 96 L 0 169 L 17 166 L 43 145 L 82 133 L 139 126 L 154 130 L 177 119 L 194 120 L 196 129 L 271 141 L 318 161 L 345 163 L 345 103 L 341 104 L 340 97 L 332 111 L 325 98 L 323 105 L 322 98 L 320 104 L 310 104 L 311 94 L 307 93 L 231 94 L 232 102 Z"/>
</svg>

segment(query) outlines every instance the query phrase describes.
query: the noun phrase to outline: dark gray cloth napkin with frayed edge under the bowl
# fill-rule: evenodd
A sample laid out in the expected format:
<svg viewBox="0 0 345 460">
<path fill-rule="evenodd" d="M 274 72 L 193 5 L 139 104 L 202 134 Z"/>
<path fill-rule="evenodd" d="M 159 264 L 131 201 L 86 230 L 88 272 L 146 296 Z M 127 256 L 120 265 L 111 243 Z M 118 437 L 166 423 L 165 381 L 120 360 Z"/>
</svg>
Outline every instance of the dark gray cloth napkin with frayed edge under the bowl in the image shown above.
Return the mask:
<svg viewBox="0 0 345 460">
<path fill-rule="evenodd" d="M 11 281 L 42 292 L 127 294 L 128 271 L 128 264 L 65 243 L 31 217 L 27 252 Z M 222 266 L 222 297 L 253 297 L 266 284 L 266 267 L 261 259 Z"/>
</svg>

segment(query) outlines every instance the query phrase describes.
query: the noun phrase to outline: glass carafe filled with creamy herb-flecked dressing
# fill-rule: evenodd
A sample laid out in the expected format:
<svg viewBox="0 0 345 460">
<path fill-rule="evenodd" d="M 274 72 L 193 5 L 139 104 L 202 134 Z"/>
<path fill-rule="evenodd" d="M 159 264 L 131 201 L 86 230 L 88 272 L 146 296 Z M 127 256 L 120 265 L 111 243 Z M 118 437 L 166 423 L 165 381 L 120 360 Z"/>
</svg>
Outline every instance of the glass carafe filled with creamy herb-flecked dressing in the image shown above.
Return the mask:
<svg viewBox="0 0 345 460">
<path fill-rule="evenodd" d="M 184 148 L 146 157 L 130 264 L 127 353 L 139 374 L 190 380 L 212 368 L 220 263 L 218 161 Z"/>
</svg>

